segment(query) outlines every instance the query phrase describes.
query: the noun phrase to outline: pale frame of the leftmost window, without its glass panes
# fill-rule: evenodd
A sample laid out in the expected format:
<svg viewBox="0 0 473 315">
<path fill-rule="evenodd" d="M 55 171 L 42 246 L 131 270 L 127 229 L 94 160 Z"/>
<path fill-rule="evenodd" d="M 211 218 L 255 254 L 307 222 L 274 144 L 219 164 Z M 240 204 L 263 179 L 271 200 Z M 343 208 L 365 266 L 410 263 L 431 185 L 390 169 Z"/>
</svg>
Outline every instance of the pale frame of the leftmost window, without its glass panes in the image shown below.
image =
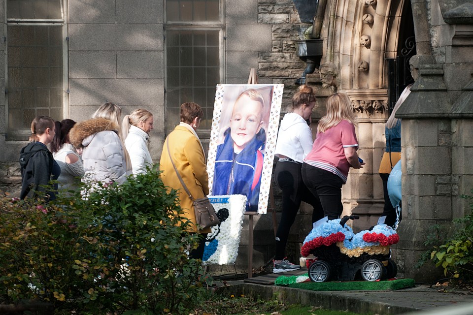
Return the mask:
<svg viewBox="0 0 473 315">
<path fill-rule="evenodd" d="M 68 0 L 59 0 L 61 6 L 62 19 L 18 19 L 7 17 L 7 5 L 8 0 L 4 1 L 4 21 L 6 21 L 3 28 L 4 41 L 5 41 L 5 54 L 4 54 L 4 77 L 5 77 L 5 140 L 6 141 L 26 141 L 28 136 L 31 135 L 30 128 L 11 130 L 9 129 L 9 107 L 8 107 L 8 27 L 10 25 L 21 25 L 21 26 L 62 26 L 62 50 L 63 50 L 63 97 L 62 97 L 62 108 L 63 108 L 63 119 L 69 117 L 69 64 L 68 64 Z M 54 119 L 54 118 L 53 118 Z"/>
</svg>

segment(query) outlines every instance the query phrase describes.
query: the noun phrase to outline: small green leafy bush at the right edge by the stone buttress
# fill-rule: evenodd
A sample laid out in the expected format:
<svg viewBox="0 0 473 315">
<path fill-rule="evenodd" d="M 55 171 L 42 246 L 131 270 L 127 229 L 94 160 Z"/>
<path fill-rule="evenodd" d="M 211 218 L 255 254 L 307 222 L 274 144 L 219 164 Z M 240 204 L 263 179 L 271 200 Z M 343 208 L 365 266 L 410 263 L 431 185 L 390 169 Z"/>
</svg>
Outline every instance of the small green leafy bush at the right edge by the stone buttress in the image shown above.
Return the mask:
<svg viewBox="0 0 473 315">
<path fill-rule="evenodd" d="M 473 199 L 473 196 L 463 196 Z M 473 203 L 470 204 L 473 209 Z M 447 274 L 462 278 L 464 281 L 473 281 L 473 214 L 454 220 L 454 236 L 438 250 L 431 252 L 431 259 L 436 266 L 443 268 Z"/>
</svg>

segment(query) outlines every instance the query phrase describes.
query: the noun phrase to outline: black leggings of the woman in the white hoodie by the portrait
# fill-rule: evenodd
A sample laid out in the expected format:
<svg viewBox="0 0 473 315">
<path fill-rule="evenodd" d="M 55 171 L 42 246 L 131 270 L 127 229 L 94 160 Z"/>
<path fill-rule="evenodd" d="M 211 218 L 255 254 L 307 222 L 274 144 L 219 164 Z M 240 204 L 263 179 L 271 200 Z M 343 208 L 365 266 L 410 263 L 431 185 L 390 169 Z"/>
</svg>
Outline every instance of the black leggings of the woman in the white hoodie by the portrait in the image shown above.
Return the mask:
<svg viewBox="0 0 473 315">
<path fill-rule="evenodd" d="M 282 190 L 282 211 L 281 221 L 276 232 L 275 260 L 285 257 L 287 238 L 301 206 L 301 201 L 314 208 L 312 222 L 324 217 L 320 202 L 304 185 L 301 166 L 297 162 L 278 161 L 274 171 L 276 184 Z"/>
</svg>

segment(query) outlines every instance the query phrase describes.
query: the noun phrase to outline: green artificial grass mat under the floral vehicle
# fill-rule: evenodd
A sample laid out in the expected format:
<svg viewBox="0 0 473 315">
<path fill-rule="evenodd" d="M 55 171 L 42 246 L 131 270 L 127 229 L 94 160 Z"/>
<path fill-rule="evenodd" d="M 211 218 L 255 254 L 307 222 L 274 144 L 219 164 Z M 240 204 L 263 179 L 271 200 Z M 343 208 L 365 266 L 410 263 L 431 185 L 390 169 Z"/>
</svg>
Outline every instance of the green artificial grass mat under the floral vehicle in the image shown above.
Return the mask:
<svg viewBox="0 0 473 315">
<path fill-rule="evenodd" d="M 282 276 L 284 277 L 284 276 Z M 277 284 L 276 285 L 281 285 Z M 284 285 L 284 284 L 283 284 Z M 363 290 L 399 290 L 415 286 L 414 279 L 396 279 L 382 281 L 346 281 L 346 282 L 301 282 L 285 284 L 284 286 L 295 287 L 312 291 L 363 291 Z"/>
</svg>

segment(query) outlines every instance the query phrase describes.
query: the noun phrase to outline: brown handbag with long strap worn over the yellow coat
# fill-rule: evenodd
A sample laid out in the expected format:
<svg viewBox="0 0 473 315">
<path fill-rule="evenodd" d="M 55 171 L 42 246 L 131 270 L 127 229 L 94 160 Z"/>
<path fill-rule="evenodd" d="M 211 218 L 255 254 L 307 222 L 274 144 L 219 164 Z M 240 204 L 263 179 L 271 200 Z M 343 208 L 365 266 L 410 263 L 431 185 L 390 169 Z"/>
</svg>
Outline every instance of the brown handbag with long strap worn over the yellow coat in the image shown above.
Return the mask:
<svg viewBox="0 0 473 315">
<path fill-rule="evenodd" d="M 177 178 L 181 182 L 182 187 L 187 192 L 187 194 L 189 195 L 189 198 L 192 200 L 192 203 L 194 204 L 194 212 L 196 215 L 197 228 L 200 230 L 203 230 L 206 227 L 211 227 L 211 226 L 220 224 L 220 220 L 218 220 L 217 214 L 212 204 L 210 203 L 210 200 L 207 197 L 194 199 L 189 189 L 187 189 L 186 184 L 184 184 L 184 181 L 182 180 L 182 177 L 177 171 L 177 167 L 174 164 L 174 161 L 172 160 L 171 153 L 169 152 L 169 137 L 166 140 L 166 145 L 168 147 L 169 158 L 171 160 L 172 166 L 174 167 L 174 171 L 176 171 Z"/>
</svg>

